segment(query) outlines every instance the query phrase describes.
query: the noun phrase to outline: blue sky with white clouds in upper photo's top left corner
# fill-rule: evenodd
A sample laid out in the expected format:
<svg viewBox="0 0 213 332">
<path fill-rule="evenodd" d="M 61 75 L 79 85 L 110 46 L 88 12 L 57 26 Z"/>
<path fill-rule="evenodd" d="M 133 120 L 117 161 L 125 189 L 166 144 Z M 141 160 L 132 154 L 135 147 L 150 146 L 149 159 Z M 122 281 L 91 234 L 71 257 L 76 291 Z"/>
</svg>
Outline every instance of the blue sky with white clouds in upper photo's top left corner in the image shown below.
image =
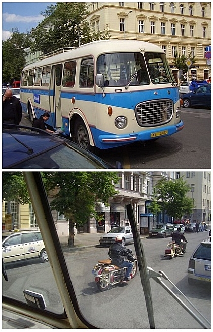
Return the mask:
<svg viewBox="0 0 213 332">
<path fill-rule="evenodd" d="M 41 12 L 54 2 L 2 2 L 2 40 L 10 38 L 12 28 L 26 33 L 44 17 Z"/>
</svg>

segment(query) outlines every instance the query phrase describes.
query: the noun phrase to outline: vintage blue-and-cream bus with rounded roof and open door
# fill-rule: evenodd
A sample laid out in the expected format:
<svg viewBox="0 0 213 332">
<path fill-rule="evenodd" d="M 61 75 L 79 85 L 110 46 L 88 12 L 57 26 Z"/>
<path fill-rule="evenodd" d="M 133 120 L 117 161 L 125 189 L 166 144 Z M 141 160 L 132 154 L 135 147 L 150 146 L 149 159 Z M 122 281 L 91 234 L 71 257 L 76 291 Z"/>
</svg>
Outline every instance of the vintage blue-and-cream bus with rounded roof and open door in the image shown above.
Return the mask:
<svg viewBox="0 0 213 332">
<path fill-rule="evenodd" d="M 47 54 L 23 69 L 20 101 L 31 122 L 49 112 L 47 124 L 89 150 L 170 136 L 184 127 L 165 52 L 136 40 Z"/>
</svg>

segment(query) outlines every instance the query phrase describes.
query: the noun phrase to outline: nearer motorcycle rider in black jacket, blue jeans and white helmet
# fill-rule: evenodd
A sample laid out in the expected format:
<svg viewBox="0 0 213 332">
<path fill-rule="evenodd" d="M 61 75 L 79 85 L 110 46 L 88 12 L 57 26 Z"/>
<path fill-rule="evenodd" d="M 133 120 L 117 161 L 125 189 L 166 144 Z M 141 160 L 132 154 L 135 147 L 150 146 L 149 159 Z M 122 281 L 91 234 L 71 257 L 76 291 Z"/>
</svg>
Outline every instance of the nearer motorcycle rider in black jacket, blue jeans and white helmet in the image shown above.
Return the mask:
<svg viewBox="0 0 213 332">
<path fill-rule="evenodd" d="M 111 263 L 113 265 L 116 265 L 118 267 L 127 267 L 126 275 L 123 281 L 129 281 L 131 279 L 130 274 L 133 264 L 132 262 L 126 261 L 125 258 L 128 258 L 133 261 L 134 258 L 132 258 L 130 251 L 126 249 L 125 246 L 122 245 L 122 242 L 123 242 L 122 235 L 118 235 L 115 239 L 115 243 L 113 243 L 110 246 L 108 255 L 112 259 Z"/>
</svg>

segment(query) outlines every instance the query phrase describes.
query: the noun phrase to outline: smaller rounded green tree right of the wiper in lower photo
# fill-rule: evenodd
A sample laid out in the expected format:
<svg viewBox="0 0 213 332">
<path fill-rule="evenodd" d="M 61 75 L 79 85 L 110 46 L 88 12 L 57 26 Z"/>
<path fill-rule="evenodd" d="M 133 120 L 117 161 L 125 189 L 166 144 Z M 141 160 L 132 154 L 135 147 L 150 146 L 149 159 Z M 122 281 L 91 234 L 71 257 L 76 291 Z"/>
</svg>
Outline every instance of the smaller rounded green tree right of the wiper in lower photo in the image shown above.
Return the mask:
<svg viewBox="0 0 213 332">
<path fill-rule="evenodd" d="M 176 180 L 160 180 L 155 186 L 158 201 L 166 213 L 175 219 L 180 219 L 186 213 L 191 213 L 193 201 L 186 194 L 189 187 L 182 178 Z"/>
</svg>

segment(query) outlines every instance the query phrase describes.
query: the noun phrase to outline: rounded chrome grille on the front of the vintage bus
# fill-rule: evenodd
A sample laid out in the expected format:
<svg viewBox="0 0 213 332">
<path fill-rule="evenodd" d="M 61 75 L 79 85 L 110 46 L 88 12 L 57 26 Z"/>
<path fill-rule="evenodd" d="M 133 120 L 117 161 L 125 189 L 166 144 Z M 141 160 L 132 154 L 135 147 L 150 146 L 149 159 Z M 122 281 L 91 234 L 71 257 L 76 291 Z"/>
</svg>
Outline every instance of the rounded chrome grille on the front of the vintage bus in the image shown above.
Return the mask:
<svg viewBox="0 0 213 332">
<path fill-rule="evenodd" d="M 135 108 L 140 126 L 153 127 L 167 123 L 173 116 L 173 103 L 170 99 L 150 100 Z"/>
</svg>

